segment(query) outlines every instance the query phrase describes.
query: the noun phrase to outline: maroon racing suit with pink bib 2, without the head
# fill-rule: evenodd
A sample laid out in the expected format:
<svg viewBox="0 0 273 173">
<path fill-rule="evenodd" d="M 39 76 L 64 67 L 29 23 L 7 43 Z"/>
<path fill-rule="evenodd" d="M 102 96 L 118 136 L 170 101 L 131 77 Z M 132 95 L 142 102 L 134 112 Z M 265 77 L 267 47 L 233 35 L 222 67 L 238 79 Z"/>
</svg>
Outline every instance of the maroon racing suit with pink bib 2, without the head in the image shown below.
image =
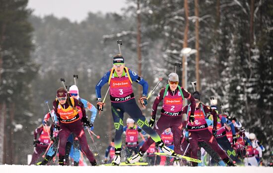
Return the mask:
<svg viewBox="0 0 273 173">
<path fill-rule="evenodd" d="M 167 91 L 162 88 L 155 98 L 152 106 L 152 119 L 155 120 L 156 110 L 159 102 L 163 100 L 161 109 L 161 116 L 154 126 L 154 130 L 160 135 L 165 129 L 171 128 L 174 138 L 174 152 L 182 154 L 180 137 L 182 134 L 182 108 L 183 98 L 188 98 L 192 103 L 192 114 L 195 110 L 195 99 L 191 94 L 181 87 L 182 94 L 179 87 L 173 92 L 169 87 Z M 149 137 L 140 148 L 140 151 L 145 152 L 154 141 Z"/>
</svg>

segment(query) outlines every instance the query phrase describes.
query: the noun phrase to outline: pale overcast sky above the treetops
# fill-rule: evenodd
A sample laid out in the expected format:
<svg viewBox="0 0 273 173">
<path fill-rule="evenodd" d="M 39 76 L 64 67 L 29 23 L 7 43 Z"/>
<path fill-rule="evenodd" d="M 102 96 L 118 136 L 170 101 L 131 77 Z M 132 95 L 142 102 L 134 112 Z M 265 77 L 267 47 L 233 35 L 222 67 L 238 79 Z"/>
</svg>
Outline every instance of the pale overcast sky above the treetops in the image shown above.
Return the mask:
<svg viewBox="0 0 273 173">
<path fill-rule="evenodd" d="M 122 7 L 126 6 L 126 0 L 29 0 L 28 7 L 32 8 L 33 14 L 44 16 L 53 14 L 58 18 L 67 17 L 71 21 L 82 21 L 87 13 L 117 12 L 121 13 Z"/>
</svg>

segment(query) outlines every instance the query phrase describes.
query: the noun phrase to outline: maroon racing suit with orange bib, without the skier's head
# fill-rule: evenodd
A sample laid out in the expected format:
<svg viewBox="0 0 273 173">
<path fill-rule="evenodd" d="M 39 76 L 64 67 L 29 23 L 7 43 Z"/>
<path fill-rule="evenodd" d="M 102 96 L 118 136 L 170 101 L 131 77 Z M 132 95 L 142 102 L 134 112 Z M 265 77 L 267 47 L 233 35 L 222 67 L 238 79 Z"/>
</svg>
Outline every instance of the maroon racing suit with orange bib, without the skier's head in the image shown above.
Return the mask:
<svg viewBox="0 0 273 173">
<path fill-rule="evenodd" d="M 73 107 L 77 108 L 77 110 L 75 110 L 75 108 L 73 108 L 72 106 L 68 105 L 68 101 L 63 105 L 61 105 L 61 103 L 56 100 L 53 102 L 54 111 L 60 122 L 59 159 L 64 159 L 66 154 L 66 143 L 68 136 L 71 133 L 74 133 L 74 135 L 79 140 L 82 152 L 85 153 L 89 162 L 92 163 L 95 161 L 95 158 L 88 147 L 83 124 L 81 123 L 79 118 L 79 114 L 82 114 L 82 117 L 86 117 L 84 106 L 77 99 L 74 99 L 72 97 L 70 97 L 70 101 L 70 105 L 72 104 Z"/>
</svg>

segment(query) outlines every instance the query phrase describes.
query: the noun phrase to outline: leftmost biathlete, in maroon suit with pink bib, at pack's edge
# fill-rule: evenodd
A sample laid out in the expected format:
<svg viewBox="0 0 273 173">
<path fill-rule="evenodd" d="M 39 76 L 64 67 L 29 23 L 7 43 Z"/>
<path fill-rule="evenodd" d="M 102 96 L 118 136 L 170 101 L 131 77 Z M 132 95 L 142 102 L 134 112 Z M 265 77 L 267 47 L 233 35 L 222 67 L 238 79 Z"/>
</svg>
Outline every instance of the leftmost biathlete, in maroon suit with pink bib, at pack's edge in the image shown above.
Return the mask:
<svg viewBox="0 0 273 173">
<path fill-rule="evenodd" d="M 37 160 L 47 150 L 47 147 L 50 143 L 50 127 L 51 126 L 39 126 L 34 130 L 34 151 L 32 154 L 32 159 L 30 165 L 36 164 Z M 52 129 L 53 130 L 53 129 Z M 37 139 L 39 135 L 39 138 Z"/>
</svg>

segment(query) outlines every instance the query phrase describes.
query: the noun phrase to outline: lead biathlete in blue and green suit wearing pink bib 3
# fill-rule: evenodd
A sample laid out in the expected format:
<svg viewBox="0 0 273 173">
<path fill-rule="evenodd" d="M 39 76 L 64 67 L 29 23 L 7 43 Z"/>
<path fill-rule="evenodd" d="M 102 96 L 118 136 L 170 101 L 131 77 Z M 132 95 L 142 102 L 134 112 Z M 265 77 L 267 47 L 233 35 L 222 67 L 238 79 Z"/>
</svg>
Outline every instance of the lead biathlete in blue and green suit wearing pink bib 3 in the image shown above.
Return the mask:
<svg viewBox="0 0 273 173">
<path fill-rule="evenodd" d="M 156 142 L 166 154 L 175 154 L 173 150 L 169 149 L 164 145 L 159 135 L 149 127 L 149 123 L 147 122 L 146 118 L 143 116 L 141 110 L 136 104 L 132 87 L 133 81 L 143 87 L 142 97 L 139 99 L 139 102 L 141 103 L 143 108 L 145 108 L 145 106 L 147 105 L 146 95 L 148 91 L 148 83 L 140 76 L 138 76 L 135 72 L 125 67 L 124 58 L 120 54 L 114 56 L 113 68 L 109 72 L 105 73 L 105 75 L 101 78 L 96 86 L 96 95 L 98 101 L 97 109 L 99 111 L 103 111 L 104 106 L 104 103 L 101 99 L 101 87 L 103 87 L 106 83 L 108 83 L 110 87 L 111 110 L 114 126 L 116 129 L 116 156 L 112 162 L 112 165 L 119 165 L 121 162 L 123 118 L 125 112 L 129 114 L 129 116 L 138 124 L 138 126 L 142 130 L 150 135 L 152 140 Z"/>
</svg>

